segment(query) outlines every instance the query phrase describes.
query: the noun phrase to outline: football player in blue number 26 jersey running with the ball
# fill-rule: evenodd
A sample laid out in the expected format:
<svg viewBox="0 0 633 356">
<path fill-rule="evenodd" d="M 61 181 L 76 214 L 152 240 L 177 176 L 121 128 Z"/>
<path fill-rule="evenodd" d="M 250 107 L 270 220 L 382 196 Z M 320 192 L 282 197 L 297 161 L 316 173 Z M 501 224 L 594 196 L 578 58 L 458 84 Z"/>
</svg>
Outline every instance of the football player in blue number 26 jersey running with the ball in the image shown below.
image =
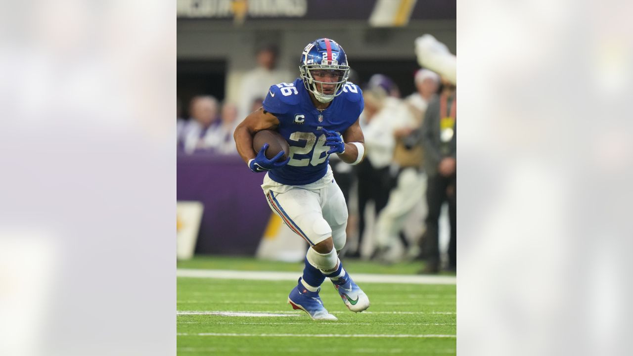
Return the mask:
<svg viewBox="0 0 633 356">
<path fill-rule="evenodd" d="M 358 86 L 347 82 L 345 52 L 330 39 L 317 39 L 303 49 L 299 72 L 301 78 L 294 82 L 268 89 L 263 108 L 235 129 L 235 144 L 251 171 L 267 172 L 261 188 L 270 208 L 310 244 L 303 276 L 288 303 L 312 319 L 337 320 L 319 296 L 326 277 L 349 310 L 362 312 L 370 305 L 337 254 L 346 242 L 348 210 L 328 163 L 332 153 L 352 165 L 363 160 L 358 120 L 363 97 Z M 268 144 L 259 152 L 253 150 L 253 135 L 266 129 L 277 130 L 286 139 L 287 160 L 282 160 L 283 152 L 268 160 Z"/>
</svg>

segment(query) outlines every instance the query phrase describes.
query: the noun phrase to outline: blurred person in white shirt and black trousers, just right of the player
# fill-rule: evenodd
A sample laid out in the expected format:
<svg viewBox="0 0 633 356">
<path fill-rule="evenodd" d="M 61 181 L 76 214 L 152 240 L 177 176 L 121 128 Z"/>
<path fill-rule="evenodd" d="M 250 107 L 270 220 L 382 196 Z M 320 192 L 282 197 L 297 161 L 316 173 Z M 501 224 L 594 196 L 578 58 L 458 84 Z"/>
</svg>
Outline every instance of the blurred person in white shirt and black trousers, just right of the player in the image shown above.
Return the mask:
<svg viewBox="0 0 633 356">
<path fill-rule="evenodd" d="M 393 158 L 394 129 L 406 121 L 408 111 L 398 98 L 389 96 L 394 92 L 394 82 L 385 75 L 376 74 L 369 80 L 363 91 L 365 110 L 363 111 L 363 134 L 365 135 L 365 160 L 356 166 L 358 177 L 358 250 L 348 253 L 349 257 L 360 257 L 365 232 L 365 207 L 373 201 L 377 216 L 387 205 L 391 189 L 389 172 Z"/>
</svg>

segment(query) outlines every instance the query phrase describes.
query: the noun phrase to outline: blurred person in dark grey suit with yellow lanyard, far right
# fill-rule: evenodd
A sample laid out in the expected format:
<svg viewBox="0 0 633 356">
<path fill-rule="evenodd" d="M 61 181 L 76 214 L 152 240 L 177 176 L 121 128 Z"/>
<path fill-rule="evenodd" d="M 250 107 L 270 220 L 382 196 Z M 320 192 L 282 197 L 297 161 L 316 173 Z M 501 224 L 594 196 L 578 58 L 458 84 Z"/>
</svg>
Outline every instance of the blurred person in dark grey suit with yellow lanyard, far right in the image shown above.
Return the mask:
<svg viewBox="0 0 633 356">
<path fill-rule="evenodd" d="M 427 234 L 425 254 L 428 264 L 422 272 L 437 273 L 440 268 L 438 220 L 444 201 L 448 201 L 451 238 L 448 269 L 456 270 L 456 118 L 457 90 L 442 77 L 442 92 L 429 102 L 422 123 L 422 144 L 427 172 Z"/>
</svg>

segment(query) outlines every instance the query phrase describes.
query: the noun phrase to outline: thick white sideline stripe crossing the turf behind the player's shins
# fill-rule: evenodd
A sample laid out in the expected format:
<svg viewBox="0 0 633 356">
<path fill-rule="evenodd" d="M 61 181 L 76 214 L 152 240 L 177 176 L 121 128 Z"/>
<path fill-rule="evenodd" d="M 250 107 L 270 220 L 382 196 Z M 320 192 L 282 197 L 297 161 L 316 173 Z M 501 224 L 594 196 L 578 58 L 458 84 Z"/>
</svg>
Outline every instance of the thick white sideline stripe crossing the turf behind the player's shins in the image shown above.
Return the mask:
<svg viewBox="0 0 633 356">
<path fill-rule="evenodd" d="M 261 270 L 176 269 L 177 277 L 255 279 L 259 281 L 296 281 L 301 272 L 270 272 Z M 354 273 L 358 283 L 456 284 L 451 276 L 413 276 L 408 274 Z"/>
</svg>

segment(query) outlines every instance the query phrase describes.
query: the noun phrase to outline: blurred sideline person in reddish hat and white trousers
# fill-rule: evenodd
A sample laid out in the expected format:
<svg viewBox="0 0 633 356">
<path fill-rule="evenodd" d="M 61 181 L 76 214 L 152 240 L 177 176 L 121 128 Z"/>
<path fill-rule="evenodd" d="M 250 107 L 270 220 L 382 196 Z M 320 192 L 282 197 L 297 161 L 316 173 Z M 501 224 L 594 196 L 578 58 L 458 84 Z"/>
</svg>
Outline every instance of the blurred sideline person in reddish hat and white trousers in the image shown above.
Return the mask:
<svg viewBox="0 0 633 356">
<path fill-rule="evenodd" d="M 418 70 L 415 85 L 417 92 L 406 98 L 406 108 L 410 115 L 400 115 L 404 120 L 393 132 L 395 148 L 391 167 L 396 171 L 394 186 L 389 192 L 387 206 L 380 212 L 376 224 L 377 248 L 374 257 L 384 262 L 395 262 L 396 257 L 392 255 L 391 249 L 398 237 L 405 248 L 411 246 L 410 257 L 416 257 L 420 252 L 417 243 L 409 244 L 403 234 L 406 218 L 424 200 L 426 189 L 426 175 L 422 172 L 422 144 L 419 141 L 411 144 L 408 138 L 422 125 L 429 100 L 437 92 L 439 75 L 427 69 Z M 424 203 L 426 205 L 426 201 Z"/>
</svg>

